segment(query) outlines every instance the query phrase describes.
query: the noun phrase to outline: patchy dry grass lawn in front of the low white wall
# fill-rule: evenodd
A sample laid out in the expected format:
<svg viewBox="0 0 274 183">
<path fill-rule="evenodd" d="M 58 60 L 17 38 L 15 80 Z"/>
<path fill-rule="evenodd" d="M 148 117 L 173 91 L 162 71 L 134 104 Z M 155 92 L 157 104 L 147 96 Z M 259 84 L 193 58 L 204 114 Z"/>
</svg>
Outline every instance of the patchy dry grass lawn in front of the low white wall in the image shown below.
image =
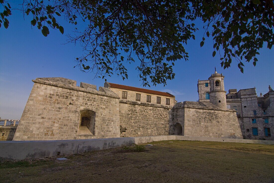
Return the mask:
<svg viewBox="0 0 274 183">
<path fill-rule="evenodd" d="M 274 146 L 158 141 L 126 148 L 0 163 L 0 182 L 274 182 Z"/>
</svg>

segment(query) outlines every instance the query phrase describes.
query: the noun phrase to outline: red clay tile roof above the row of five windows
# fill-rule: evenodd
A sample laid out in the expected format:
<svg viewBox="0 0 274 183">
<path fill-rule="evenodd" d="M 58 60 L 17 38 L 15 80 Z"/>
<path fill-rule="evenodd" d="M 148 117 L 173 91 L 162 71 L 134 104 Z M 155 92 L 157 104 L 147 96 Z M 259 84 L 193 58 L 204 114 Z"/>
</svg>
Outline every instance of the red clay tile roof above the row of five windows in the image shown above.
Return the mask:
<svg viewBox="0 0 274 183">
<path fill-rule="evenodd" d="M 162 96 L 166 96 L 166 97 L 175 97 L 174 95 L 172 95 L 168 92 L 160 92 L 160 91 L 149 90 L 149 89 L 144 89 L 144 88 L 137 88 L 137 87 L 133 87 L 133 86 L 119 85 L 119 84 L 115 84 L 115 83 L 109 83 L 109 85 L 110 85 L 110 88 L 118 88 L 118 89 L 124 89 L 124 90 L 136 91 L 136 92 L 162 95 Z"/>
</svg>

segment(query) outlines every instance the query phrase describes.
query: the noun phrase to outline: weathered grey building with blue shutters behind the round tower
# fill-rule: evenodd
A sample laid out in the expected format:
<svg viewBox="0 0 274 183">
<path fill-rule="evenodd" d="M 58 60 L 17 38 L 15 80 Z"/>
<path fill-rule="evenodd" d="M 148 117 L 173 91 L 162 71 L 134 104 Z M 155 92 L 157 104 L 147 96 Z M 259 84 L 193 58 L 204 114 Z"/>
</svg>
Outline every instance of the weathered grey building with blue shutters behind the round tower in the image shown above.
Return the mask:
<svg viewBox="0 0 274 183">
<path fill-rule="evenodd" d="M 198 80 L 199 101 L 210 102 L 210 85 L 209 80 Z M 229 89 L 226 108 L 237 111 L 243 138 L 274 140 L 274 91 L 270 86 L 269 91 L 260 96 L 257 96 L 256 88 Z"/>
</svg>

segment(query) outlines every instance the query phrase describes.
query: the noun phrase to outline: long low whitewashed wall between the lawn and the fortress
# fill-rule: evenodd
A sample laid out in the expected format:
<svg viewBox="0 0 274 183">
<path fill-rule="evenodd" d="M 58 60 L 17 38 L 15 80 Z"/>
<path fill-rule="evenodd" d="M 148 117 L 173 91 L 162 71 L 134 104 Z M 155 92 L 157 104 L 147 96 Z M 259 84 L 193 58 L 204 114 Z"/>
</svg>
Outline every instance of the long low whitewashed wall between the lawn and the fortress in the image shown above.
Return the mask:
<svg viewBox="0 0 274 183">
<path fill-rule="evenodd" d="M 70 155 L 89 152 L 93 150 L 110 149 L 132 144 L 144 144 L 153 141 L 163 140 L 190 140 L 190 141 L 216 141 L 216 142 L 236 142 L 252 144 L 274 145 L 274 141 L 266 140 L 246 140 L 228 138 L 209 138 L 178 135 L 144 136 L 144 137 L 124 137 L 105 139 L 85 139 L 85 140 L 50 140 L 50 141 L 1 141 L 0 161 L 16 161 L 25 159 L 36 159 L 57 155 Z M 78 148 L 79 146 L 79 148 Z"/>
</svg>

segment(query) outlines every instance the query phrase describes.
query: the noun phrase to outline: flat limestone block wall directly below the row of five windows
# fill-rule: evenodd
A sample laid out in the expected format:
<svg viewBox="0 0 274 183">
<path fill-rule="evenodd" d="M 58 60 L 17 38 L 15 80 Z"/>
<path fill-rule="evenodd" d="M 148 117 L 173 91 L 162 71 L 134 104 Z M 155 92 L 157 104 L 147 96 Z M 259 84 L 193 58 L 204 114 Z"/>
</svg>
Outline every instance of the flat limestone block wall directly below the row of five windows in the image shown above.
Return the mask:
<svg viewBox="0 0 274 183">
<path fill-rule="evenodd" d="M 171 107 L 128 100 L 119 102 L 121 137 L 169 134 Z"/>
</svg>

